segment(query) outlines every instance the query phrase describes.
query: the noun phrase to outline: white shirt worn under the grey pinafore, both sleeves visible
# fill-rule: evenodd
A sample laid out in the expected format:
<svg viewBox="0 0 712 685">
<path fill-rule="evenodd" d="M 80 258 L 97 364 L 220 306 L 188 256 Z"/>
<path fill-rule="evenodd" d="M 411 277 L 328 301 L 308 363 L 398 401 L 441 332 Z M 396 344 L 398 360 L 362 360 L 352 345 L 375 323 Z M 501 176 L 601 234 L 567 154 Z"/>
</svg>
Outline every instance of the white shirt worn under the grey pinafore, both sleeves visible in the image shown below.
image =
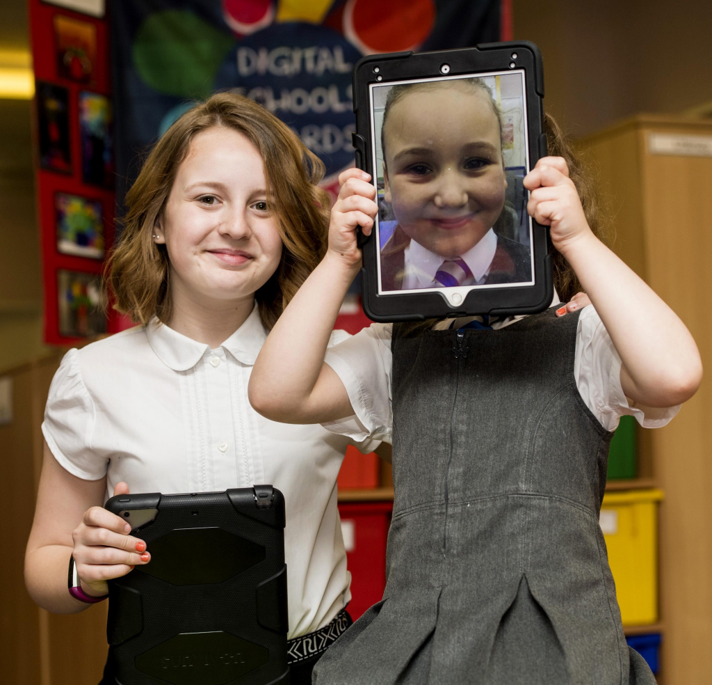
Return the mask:
<svg viewBox="0 0 712 685">
<path fill-rule="evenodd" d="M 558 302 L 554 297 L 553 304 Z M 455 319 L 464 326 L 473 316 Z M 493 329 L 509 326 L 523 316 L 508 316 L 492 324 Z M 439 321 L 434 329 L 448 329 L 453 319 Z M 354 440 L 368 436 L 392 441 L 391 336 L 393 324 L 372 324 L 370 328 L 327 351 L 325 362 L 341 379 L 354 408 L 355 416 L 324 423 L 325 428 Z M 585 307 L 576 331 L 574 377 L 586 406 L 607 431 L 614 431 L 621 416 L 631 415 L 644 428 L 659 428 L 680 411 L 629 406 L 620 383 L 621 359 L 596 310 Z"/>
</svg>

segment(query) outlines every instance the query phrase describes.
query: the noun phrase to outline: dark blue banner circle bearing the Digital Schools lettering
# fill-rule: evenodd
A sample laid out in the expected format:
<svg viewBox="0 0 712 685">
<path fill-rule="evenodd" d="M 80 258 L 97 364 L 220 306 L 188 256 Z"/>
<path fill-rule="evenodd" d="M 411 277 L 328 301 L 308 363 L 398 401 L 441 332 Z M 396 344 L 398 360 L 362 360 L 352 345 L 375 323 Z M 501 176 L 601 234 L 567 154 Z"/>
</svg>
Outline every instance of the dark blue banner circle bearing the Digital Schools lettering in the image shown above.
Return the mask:
<svg viewBox="0 0 712 685">
<path fill-rule="evenodd" d="M 325 26 L 273 24 L 240 40 L 221 64 L 214 88 L 239 88 L 286 122 L 326 165 L 352 165 L 351 72 L 361 53 Z"/>
</svg>

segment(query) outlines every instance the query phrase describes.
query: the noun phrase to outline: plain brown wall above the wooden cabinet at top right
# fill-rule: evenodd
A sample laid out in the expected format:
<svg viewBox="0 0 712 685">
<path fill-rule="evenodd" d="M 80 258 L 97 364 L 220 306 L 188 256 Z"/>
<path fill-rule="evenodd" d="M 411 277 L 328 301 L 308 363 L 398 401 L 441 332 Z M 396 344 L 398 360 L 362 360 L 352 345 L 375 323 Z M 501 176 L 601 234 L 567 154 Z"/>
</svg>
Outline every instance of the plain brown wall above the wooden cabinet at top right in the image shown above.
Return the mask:
<svg viewBox="0 0 712 685">
<path fill-rule="evenodd" d="M 544 107 L 576 137 L 637 113 L 712 106 L 710 0 L 512 0 L 544 58 Z"/>
</svg>

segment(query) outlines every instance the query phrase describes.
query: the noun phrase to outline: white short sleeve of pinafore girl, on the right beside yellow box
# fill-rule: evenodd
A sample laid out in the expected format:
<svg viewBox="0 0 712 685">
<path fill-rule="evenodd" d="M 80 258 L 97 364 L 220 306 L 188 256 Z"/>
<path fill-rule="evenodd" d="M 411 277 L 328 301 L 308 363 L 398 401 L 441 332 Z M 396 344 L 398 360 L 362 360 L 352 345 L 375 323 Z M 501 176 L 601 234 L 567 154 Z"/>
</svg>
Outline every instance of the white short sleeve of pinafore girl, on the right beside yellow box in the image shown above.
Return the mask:
<svg viewBox="0 0 712 685">
<path fill-rule="evenodd" d="M 621 416 L 634 416 L 643 428 L 660 428 L 680 411 L 680 405 L 633 407 L 621 387 L 621 358 L 597 311 L 581 311 L 576 335 L 574 376 L 581 398 L 607 431 L 614 431 Z"/>
</svg>

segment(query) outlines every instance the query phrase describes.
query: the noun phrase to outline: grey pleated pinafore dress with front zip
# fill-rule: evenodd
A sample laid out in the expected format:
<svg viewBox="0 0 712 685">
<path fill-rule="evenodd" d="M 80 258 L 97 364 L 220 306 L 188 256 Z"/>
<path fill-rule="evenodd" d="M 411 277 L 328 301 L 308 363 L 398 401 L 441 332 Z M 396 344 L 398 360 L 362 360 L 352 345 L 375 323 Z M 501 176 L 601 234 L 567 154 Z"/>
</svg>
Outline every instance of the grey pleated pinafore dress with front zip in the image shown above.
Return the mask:
<svg viewBox="0 0 712 685">
<path fill-rule="evenodd" d="M 577 314 L 394 326 L 387 584 L 318 685 L 654 685 L 599 525 L 608 446 L 573 376 Z"/>
</svg>

